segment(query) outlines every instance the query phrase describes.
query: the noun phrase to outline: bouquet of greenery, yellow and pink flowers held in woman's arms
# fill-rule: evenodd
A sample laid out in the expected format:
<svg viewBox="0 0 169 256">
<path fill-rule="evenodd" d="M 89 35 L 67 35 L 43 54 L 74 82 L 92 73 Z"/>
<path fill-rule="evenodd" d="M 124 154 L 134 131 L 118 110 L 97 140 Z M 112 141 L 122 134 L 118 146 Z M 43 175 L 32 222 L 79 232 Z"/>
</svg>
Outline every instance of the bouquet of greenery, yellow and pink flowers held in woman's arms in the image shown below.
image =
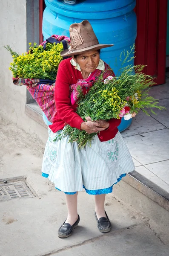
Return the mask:
<svg viewBox="0 0 169 256">
<path fill-rule="evenodd" d="M 109 76 L 104 81 L 100 76 L 85 96 L 81 93 L 80 87 L 77 88 L 79 90 L 77 114 L 84 121 L 86 121 L 85 118 L 87 116 L 90 116 L 92 121 L 112 118 L 120 119 L 122 117 L 125 120 L 129 120 L 140 109 L 147 115 L 149 113 L 146 108 L 150 109 L 152 113 L 155 113 L 152 108 L 165 109 L 158 106 L 158 100 L 148 94 L 150 87 L 155 82 L 151 76 L 142 73 L 145 66 L 137 65 L 133 67 L 132 65 L 127 65 L 123 67 L 123 64 L 134 58 L 130 57 L 134 49 L 135 46 L 133 45 L 130 52 L 123 52 L 125 58 L 117 76 Z M 121 58 L 122 53 L 120 55 Z M 69 142 L 76 141 L 79 148 L 83 148 L 86 145 L 91 145 L 96 133 L 88 134 L 86 131 L 66 125 L 55 140 L 61 140 L 66 135 L 69 135 Z"/>
</svg>

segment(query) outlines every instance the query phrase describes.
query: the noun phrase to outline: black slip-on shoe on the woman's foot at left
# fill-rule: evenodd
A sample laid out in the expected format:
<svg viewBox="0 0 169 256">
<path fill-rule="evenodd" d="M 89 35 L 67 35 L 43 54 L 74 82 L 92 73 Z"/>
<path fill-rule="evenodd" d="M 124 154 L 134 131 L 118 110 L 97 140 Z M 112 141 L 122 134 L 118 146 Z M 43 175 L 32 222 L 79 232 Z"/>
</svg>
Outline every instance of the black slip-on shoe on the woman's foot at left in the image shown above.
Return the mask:
<svg viewBox="0 0 169 256">
<path fill-rule="evenodd" d="M 64 222 L 58 230 L 58 237 L 66 238 L 66 237 L 72 235 L 72 232 L 73 232 L 74 228 L 76 228 L 77 225 L 79 224 L 79 221 L 80 221 L 80 217 L 78 215 L 77 221 L 72 226 L 71 226 L 71 224 Z"/>
</svg>

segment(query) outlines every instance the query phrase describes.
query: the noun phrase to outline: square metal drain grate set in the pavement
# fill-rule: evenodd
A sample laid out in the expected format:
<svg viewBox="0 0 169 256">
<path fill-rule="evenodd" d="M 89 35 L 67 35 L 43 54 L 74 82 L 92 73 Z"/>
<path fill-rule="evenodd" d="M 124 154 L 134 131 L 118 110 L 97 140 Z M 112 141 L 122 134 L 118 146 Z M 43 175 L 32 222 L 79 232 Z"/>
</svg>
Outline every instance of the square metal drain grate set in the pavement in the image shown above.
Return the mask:
<svg viewBox="0 0 169 256">
<path fill-rule="evenodd" d="M 24 180 L 9 183 L 0 183 L 0 201 L 13 198 L 32 198 L 34 193 L 29 189 Z"/>
</svg>

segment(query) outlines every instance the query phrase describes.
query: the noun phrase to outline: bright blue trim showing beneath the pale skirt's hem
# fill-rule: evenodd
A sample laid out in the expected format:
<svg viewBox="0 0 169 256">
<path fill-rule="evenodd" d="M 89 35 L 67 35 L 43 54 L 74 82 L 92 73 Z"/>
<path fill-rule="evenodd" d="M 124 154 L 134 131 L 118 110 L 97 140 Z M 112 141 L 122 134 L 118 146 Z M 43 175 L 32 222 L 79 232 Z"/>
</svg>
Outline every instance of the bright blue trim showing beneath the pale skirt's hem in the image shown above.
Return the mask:
<svg viewBox="0 0 169 256">
<path fill-rule="evenodd" d="M 48 178 L 49 174 L 46 174 L 46 173 L 42 173 L 42 176 L 45 177 L 45 178 Z M 126 176 L 126 173 L 120 175 L 120 177 L 117 179 L 117 182 L 119 182 L 123 177 Z M 89 194 L 89 195 L 101 195 L 101 194 L 109 194 L 109 193 L 112 193 L 113 191 L 113 186 L 115 184 L 114 183 L 111 187 L 107 188 L 107 189 L 97 189 L 97 190 L 89 190 L 89 189 L 86 189 L 85 186 L 83 185 L 83 188 L 86 190 L 86 193 Z M 56 187 L 55 187 L 56 188 Z M 57 190 L 61 191 L 60 189 L 56 188 Z M 74 195 L 76 194 L 76 192 L 64 192 L 66 195 Z"/>
</svg>

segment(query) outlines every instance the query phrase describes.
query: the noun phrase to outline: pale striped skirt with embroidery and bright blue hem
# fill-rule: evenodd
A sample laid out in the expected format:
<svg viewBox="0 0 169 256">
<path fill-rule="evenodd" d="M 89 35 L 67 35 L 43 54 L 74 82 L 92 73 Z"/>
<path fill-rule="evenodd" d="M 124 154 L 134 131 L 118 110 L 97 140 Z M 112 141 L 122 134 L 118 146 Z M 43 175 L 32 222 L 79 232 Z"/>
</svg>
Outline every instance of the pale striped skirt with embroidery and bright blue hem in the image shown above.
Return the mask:
<svg viewBox="0 0 169 256">
<path fill-rule="evenodd" d="M 67 194 L 83 188 L 92 195 L 110 193 L 115 183 L 135 170 L 129 149 L 119 132 L 106 142 L 100 142 L 96 135 L 91 147 L 78 149 L 76 142 L 68 143 L 68 137 L 54 142 L 56 134 L 61 131 L 55 134 L 50 128 L 48 131 L 42 175 Z"/>
</svg>

